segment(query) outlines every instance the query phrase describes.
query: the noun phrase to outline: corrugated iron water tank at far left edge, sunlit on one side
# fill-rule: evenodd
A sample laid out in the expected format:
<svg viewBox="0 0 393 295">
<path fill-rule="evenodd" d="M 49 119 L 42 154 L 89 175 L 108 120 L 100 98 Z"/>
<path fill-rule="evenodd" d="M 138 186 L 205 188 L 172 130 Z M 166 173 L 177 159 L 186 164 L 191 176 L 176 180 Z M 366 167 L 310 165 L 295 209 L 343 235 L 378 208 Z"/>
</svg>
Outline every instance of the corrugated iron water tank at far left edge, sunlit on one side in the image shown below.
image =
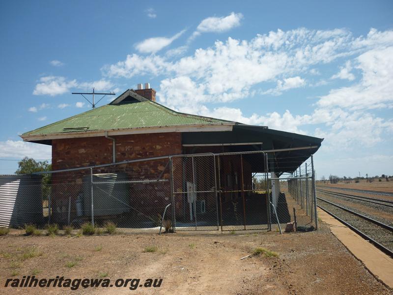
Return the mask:
<svg viewBox="0 0 393 295">
<path fill-rule="evenodd" d="M 0 175 L 0 227 L 43 221 L 42 176 Z"/>
</svg>

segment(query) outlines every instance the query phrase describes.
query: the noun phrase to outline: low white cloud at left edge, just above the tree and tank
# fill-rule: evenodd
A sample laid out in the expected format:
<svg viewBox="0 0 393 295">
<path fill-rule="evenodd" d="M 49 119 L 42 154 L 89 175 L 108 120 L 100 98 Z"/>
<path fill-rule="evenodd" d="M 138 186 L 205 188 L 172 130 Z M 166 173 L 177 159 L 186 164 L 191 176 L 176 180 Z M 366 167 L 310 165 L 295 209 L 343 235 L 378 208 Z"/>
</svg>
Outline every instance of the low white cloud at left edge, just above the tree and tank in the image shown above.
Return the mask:
<svg viewBox="0 0 393 295">
<path fill-rule="evenodd" d="M 52 147 L 27 143 L 21 140 L 7 140 L 0 142 L 0 157 L 51 159 Z"/>
</svg>

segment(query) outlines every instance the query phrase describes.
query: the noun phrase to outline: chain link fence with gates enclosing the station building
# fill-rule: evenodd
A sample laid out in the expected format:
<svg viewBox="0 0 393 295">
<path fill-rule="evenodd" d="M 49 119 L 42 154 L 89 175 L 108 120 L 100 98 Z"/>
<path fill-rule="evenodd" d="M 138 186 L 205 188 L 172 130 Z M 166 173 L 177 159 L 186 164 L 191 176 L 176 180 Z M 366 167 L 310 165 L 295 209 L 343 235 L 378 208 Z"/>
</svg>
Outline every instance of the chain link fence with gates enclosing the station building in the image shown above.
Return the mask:
<svg viewBox="0 0 393 295">
<path fill-rule="evenodd" d="M 187 154 L 1 176 L 0 227 L 112 222 L 146 231 L 165 220 L 177 231 L 280 231 L 296 215 L 298 228 L 316 228 L 312 159 L 301 167 L 280 159 L 290 175 L 275 172 L 277 159 L 262 151 Z"/>
</svg>

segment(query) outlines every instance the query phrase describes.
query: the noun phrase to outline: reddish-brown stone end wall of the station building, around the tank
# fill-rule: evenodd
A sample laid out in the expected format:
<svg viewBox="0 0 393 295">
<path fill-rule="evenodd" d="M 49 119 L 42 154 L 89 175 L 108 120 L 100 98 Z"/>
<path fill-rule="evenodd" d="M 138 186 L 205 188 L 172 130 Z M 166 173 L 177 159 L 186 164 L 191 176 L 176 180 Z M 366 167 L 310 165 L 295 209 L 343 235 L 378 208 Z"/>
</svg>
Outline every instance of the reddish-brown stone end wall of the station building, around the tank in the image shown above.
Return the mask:
<svg viewBox="0 0 393 295">
<path fill-rule="evenodd" d="M 152 133 L 115 136 L 116 162 L 181 154 L 181 133 Z M 105 137 L 58 139 L 52 141 L 53 170 L 87 167 L 112 163 L 112 141 Z M 113 165 L 93 170 L 97 173 L 126 173 L 130 179 L 169 178 L 168 159 L 143 161 L 131 164 Z M 71 221 L 76 217 L 76 200 L 83 191 L 90 170 L 56 173 L 52 176 L 52 208 L 54 220 L 64 224 L 68 218 L 68 204 L 71 204 Z M 168 183 L 168 182 L 166 182 Z M 167 186 L 158 184 L 133 185 L 132 206 L 151 207 L 146 200 L 167 204 Z M 147 198 L 148 197 L 148 198 Z M 137 204 L 138 203 L 138 204 Z M 108 204 L 110 206 L 110 204 Z M 165 207 L 165 206 L 164 206 Z M 148 212 L 146 212 L 149 214 Z"/>
</svg>

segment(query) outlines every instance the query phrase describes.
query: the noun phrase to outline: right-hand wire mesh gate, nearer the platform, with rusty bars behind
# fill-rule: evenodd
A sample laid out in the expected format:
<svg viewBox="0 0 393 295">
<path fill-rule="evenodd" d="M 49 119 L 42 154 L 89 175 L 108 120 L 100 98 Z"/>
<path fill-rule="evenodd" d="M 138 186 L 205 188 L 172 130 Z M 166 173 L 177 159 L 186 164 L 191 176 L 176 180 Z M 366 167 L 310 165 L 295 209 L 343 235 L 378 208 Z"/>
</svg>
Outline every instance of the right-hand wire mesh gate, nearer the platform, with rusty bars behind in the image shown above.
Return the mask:
<svg viewBox="0 0 393 295">
<path fill-rule="evenodd" d="M 216 155 L 222 231 L 268 229 L 270 206 L 265 153 Z"/>
</svg>

